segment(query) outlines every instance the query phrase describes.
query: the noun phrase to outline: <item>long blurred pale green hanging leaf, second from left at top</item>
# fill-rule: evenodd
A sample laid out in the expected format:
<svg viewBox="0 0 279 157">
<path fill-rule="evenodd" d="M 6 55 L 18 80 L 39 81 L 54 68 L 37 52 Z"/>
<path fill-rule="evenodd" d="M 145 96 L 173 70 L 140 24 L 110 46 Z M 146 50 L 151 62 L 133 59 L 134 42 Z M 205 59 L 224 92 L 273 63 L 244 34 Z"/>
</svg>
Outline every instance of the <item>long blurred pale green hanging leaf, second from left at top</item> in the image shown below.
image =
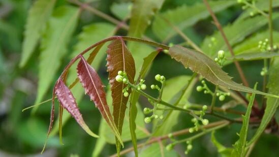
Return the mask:
<svg viewBox="0 0 279 157">
<path fill-rule="evenodd" d="M 42 101 L 61 65 L 61 58 L 67 53 L 67 45 L 75 30 L 78 16 L 78 8 L 61 6 L 54 11 L 48 22 L 49 26 L 41 44 L 38 96 L 35 104 Z M 37 108 L 33 109 L 33 113 Z"/>
</svg>

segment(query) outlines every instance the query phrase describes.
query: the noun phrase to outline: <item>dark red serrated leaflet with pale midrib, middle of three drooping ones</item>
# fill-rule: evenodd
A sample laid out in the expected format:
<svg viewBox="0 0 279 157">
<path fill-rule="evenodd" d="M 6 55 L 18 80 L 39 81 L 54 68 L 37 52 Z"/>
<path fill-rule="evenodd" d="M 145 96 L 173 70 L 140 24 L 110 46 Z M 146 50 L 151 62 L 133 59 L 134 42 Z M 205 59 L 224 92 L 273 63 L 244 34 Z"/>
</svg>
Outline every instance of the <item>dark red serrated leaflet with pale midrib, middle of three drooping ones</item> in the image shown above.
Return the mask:
<svg viewBox="0 0 279 157">
<path fill-rule="evenodd" d="M 104 119 L 106 119 L 117 139 L 121 142 L 121 144 L 123 144 L 120 134 L 115 126 L 115 123 L 113 122 L 112 115 L 110 114 L 106 101 L 106 93 L 101 79 L 97 72 L 86 62 L 83 56 L 80 57 L 77 73 L 86 94 L 92 101 L 94 101 L 96 107 L 99 109 Z"/>
</svg>

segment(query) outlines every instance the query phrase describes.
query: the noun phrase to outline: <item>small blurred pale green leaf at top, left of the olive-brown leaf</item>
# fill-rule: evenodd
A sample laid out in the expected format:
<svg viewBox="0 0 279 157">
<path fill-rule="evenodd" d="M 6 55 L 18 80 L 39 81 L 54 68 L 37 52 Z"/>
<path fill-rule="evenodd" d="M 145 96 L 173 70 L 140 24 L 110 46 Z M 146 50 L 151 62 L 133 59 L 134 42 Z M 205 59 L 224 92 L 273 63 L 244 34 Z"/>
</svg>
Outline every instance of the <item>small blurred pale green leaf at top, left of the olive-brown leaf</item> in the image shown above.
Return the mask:
<svg viewBox="0 0 279 157">
<path fill-rule="evenodd" d="M 110 7 L 110 11 L 121 20 L 130 18 L 131 16 L 131 2 L 113 3 Z"/>
</svg>

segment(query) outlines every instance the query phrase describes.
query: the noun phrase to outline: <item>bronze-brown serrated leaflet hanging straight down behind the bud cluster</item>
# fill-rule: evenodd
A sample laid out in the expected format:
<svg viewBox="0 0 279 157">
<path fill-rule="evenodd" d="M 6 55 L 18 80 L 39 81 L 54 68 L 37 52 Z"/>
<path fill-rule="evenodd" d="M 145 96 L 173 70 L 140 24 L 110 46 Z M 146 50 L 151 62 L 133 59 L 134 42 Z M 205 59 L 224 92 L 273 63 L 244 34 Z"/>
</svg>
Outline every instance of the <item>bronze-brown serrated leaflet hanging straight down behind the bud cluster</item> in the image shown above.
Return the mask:
<svg viewBox="0 0 279 157">
<path fill-rule="evenodd" d="M 107 57 L 107 71 L 109 72 L 109 84 L 111 85 L 111 96 L 113 105 L 113 117 L 119 133 L 122 132 L 122 125 L 125 116 L 126 104 L 128 97 L 124 97 L 122 90 L 127 86 L 126 84 L 117 82 L 115 77 L 118 71 L 127 73 L 128 79 L 134 83 L 135 77 L 135 61 L 132 54 L 127 49 L 122 39 L 114 40 L 108 46 Z M 128 91 L 131 92 L 131 91 Z M 119 144 L 116 142 L 117 149 Z"/>
</svg>

